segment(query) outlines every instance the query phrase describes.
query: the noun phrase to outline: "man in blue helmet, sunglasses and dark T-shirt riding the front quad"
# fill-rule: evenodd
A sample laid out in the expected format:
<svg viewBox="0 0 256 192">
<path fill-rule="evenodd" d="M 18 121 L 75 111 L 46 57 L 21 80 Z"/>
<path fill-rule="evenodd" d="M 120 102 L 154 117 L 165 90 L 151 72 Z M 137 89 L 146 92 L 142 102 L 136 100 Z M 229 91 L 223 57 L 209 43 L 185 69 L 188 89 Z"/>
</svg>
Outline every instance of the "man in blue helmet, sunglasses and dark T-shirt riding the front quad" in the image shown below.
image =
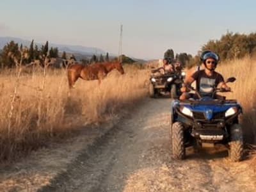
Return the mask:
<svg viewBox="0 0 256 192">
<path fill-rule="evenodd" d="M 212 51 L 204 51 L 200 59 L 205 69 L 197 70 L 191 77 L 185 80 L 185 84 L 183 84 L 180 89 L 182 92 L 180 100 L 189 99 L 191 97 L 187 92 L 189 92 L 188 86 L 190 86 L 193 81 L 196 81 L 196 90 L 200 92 L 202 96 L 211 95 L 214 86 L 220 86 L 220 88 L 226 91 L 230 90 L 230 87 L 225 84 L 223 76 L 215 71 L 219 61 L 218 55 Z M 195 95 L 193 96 L 195 97 Z"/>
</svg>

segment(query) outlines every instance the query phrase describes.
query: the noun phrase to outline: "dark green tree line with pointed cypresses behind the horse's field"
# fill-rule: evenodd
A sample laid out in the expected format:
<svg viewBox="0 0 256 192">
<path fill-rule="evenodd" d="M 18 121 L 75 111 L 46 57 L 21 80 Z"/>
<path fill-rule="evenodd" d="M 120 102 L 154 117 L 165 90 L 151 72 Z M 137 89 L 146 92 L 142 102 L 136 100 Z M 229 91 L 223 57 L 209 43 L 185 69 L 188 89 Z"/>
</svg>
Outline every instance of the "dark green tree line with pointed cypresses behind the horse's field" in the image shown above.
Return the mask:
<svg viewBox="0 0 256 192">
<path fill-rule="evenodd" d="M 69 55 L 69 56 L 68 56 Z M 63 51 L 61 56 L 59 56 L 58 47 L 51 47 L 49 49 L 49 42 L 47 41 L 40 48 L 38 45 L 34 43 L 34 40 L 31 41 L 29 47 L 26 47 L 22 44 L 17 44 L 14 41 L 10 41 L 8 44 L 4 45 L 3 50 L 0 51 L 0 67 L 1 68 L 12 68 L 17 67 L 17 63 L 20 62 L 22 58 L 22 65 L 29 65 L 33 63 L 35 60 L 38 60 L 40 65 L 44 67 L 45 58 L 60 58 L 63 63 L 67 63 L 67 60 L 77 61 L 74 54 L 67 54 L 67 52 Z M 118 58 L 109 58 L 109 53 L 106 52 L 106 56 L 100 54 L 97 56 L 93 54 L 92 57 L 84 57 L 80 60 L 83 65 L 89 65 L 91 63 L 97 62 L 108 62 L 111 60 L 118 60 Z M 131 58 L 122 55 L 122 61 L 124 63 L 134 63 L 135 61 Z M 66 67 L 66 65 L 63 65 Z"/>
</svg>

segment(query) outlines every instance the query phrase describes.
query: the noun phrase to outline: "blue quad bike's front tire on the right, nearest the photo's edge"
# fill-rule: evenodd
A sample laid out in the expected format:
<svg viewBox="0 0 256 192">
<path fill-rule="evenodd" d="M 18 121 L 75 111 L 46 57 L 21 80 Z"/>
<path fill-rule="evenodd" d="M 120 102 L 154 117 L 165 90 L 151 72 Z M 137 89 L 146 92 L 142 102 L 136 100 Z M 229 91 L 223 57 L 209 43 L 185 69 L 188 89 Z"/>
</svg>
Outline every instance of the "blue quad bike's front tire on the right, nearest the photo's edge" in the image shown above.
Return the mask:
<svg viewBox="0 0 256 192">
<path fill-rule="evenodd" d="M 243 131 L 239 124 L 230 127 L 229 158 L 232 162 L 241 161 L 243 157 Z"/>
</svg>

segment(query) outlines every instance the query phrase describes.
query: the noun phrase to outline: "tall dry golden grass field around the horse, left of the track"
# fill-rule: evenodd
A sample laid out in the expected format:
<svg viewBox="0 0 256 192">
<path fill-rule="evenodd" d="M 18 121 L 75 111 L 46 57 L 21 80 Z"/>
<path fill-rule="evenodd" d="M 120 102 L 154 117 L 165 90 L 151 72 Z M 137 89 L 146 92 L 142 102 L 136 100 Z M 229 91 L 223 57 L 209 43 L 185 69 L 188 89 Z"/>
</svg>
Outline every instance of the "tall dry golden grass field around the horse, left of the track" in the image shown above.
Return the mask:
<svg viewBox="0 0 256 192">
<path fill-rule="evenodd" d="M 147 79 L 148 70 L 125 67 L 123 76 L 113 70 L 100 85 L 79 79 L 70 92 L 65 70 L 48 70 L 46 76 L 40 69 L 22 72 L 19 86 L 15 70 L 1 72 L 0 160 L 19 157 L 76 125 L 111 119 L 124 106 L 145 97 Z"/>
</svg>

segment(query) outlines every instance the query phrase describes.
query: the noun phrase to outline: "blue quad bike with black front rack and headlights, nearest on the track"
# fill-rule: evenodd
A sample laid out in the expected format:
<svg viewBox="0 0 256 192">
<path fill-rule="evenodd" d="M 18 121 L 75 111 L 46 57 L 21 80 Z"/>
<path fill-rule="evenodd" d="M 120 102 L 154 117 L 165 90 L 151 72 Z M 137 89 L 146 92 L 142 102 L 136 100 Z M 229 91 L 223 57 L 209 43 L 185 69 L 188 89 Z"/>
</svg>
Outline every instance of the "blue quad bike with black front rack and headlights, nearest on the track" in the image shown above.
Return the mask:
<svg viewBox="0 0 256 192">
<path fill-rule="evenodd" d="M 226 83 L 236 81 L 235 77 Z M 215 88 L 211 96 L 202 97 L 194 90 L 199 99 L 185 101 L 173 100 L 171 108 L 170 139 L 172 155 L 175 159 L 184 159 L 186 147 L 200 148 L 204 143 L 221 143 L 228 147 L 228 156 L 233 162 L 241 161 L 243 156 L 243 132 L 238 116 L 243 113 L 237 100 L 226 100 Z"/>
</svg>

